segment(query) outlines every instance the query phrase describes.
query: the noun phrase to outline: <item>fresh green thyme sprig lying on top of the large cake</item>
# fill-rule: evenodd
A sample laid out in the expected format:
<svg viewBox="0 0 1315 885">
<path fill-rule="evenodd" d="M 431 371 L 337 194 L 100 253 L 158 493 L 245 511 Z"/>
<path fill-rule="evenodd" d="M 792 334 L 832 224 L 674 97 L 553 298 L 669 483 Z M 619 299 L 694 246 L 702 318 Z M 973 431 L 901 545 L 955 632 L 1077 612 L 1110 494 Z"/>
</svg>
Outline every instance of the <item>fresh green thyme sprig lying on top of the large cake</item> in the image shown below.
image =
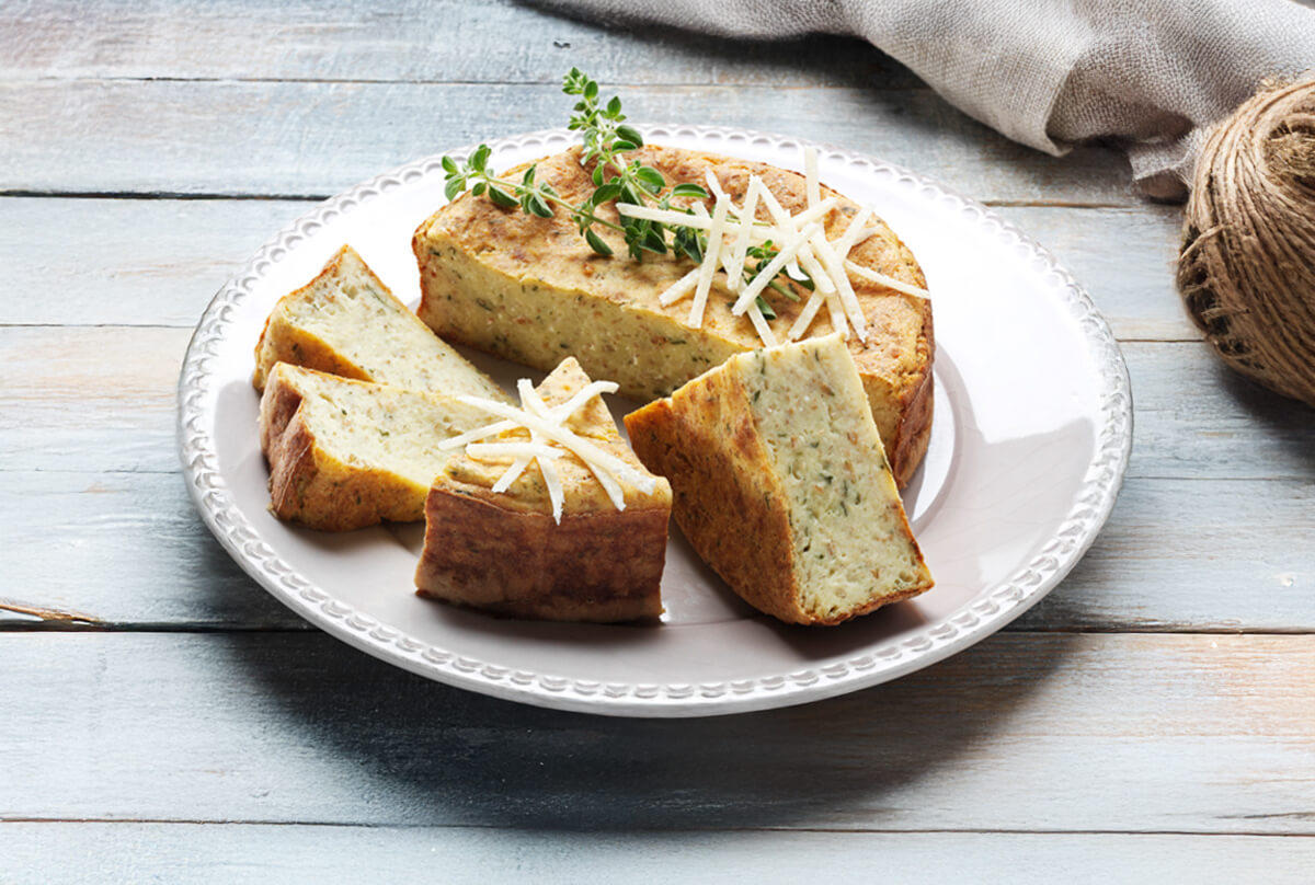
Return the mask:
<svg viewBox="0 0 1315 885">
<path fill-rule="evenodd" d="M 668 225 L 630 216 L 621 216 L 621 224 L 618 224 L 598 216 L 598 206 L 608 203 L 672 209 L 671 201 L 673 199 L 706 200 L 710 195 L 702 185 L 689 183 L 676 184 L 667 189 L 667 180 L 661 172 L 652 166 L 644 166 L 639 159 L 623 156 L 643 147 L 643 135 L 639 134 L 638 129 L 626 124 L 626 114 L 621 112 L 619 96 L 613 96 L 606 104 L 600 103 L 597 80 L 580 68 L 572 67 L 562 82 L 562 91 L 579 96 L 567 128 L 579 132 L 584 142 L 580 163 L 583 166 L 593 164 L 590 176 L 594 191 L 588 199 L 579 205 L 572 205 L 551 184 L 535 180 L 534 166 L 525 171 L 519 181 L 498 178 L 488 164 L 492 154 L 488 145 L 476 147 L 464 162 L 458 162 L 451 156 L 443 158 L 447 199 L 455 200 L 459 193 L 469 189 L 475 196 L 488 195 L 494 205 L 504 209 L 519 206 L 526 214 L 539 218 L 551 218 L 555 214 L 555 208 L 560 208 L 569 214 L 571 221 L 575 222 L 589 247 L 600 255 L 611 256 L 614 252 L 608 241 L 594 230 L 596 226 L 623 234 L 626 250 L 635 260 L 642 262 L 644 252 L 659 255 L 675 252 L 696 264 L 702 263 L 704 252 L 707 249 L 707 237 L 697 227 Z M 684 210 L 693 214 L 688 208 Z M 669 245 L 668 238 L 671 239 Z M 777 251 L 771 241 L 751 247 L 747 255 L 756 259 L 756 266 L 751 268 L 746 263 L 746 281 L 761 272 Z M 781 276 L 803 288 L 813 289 L 813 281 L 806 277 L 793 280 L 784 271 Z M 800 300 L 788 285 L 782 285 L 778 280 L 773 280 L 769 285 L 793 301 Z M 776 318 L 776 312 L 761 296 L 757 299 L 757 305 L 765 318 Z"/>
</svg>

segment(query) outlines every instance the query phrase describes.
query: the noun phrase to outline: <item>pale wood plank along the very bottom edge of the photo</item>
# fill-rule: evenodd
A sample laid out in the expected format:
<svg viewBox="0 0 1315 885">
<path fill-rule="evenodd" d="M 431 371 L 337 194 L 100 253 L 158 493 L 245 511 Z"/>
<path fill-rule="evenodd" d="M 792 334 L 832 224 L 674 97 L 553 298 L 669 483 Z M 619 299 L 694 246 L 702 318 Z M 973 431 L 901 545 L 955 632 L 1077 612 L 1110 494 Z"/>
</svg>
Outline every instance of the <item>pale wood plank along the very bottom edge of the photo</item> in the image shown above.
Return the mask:
<svg viewBox="0 0 1315 885">
<path fill-rule="evenodd" d="M 571 832 L 492 827 L 0 823 L 11 873 L 87 881 L 1307 882 L 1315 839 L 1014 832 Z M 387 857 L 387 861 L 381 859 Z M 673 864 L 679 857 L 680 867 Z"/>
</svg>

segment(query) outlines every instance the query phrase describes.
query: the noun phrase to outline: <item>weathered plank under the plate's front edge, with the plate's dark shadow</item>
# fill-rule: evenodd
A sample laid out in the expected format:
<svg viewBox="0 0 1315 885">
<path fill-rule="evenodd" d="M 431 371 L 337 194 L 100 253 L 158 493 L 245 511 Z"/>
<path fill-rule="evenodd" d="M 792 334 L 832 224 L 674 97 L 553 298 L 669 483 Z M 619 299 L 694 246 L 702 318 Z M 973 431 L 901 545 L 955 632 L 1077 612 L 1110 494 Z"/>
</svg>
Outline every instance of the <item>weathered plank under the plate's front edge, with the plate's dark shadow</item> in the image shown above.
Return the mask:
<svg viewBox="0 0 1315 885">
<path fill-rule="evenodd" d="M 1311 635 L 1001 634 L 698 721 L 529 709 L 320 634 L 3 634 L 0 656 L 7 819 L 1315 832 Z"/>
</svg>

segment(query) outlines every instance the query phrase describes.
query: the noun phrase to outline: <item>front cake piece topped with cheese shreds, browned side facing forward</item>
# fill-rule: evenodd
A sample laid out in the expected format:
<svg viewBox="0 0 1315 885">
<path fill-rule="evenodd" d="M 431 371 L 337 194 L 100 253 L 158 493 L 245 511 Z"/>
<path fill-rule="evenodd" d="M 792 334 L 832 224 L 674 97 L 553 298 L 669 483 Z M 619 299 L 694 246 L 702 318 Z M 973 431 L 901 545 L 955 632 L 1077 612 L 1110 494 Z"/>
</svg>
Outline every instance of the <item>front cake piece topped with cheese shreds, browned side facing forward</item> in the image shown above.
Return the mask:
<svg viewBox="0 0 1315 885">
<path fill-rule="evenodd" d="M 539 385 L 544 405 L 567 404 L 589 385 L 565 359 Z M 487 423 L 496 421 L 490 416 Z M 425 505 L 425 550 L 416 569 L 421 596 L 497 614 L 547 621 L 635 621 L 661 614 L 671 487 L 644 471 L 608 406 L 592 396 L 563 426 L 651 481 L 643 492 L 618 484 L 618 510 L 594 472 L 573 454 L 552 459 L 560 480 L 560 522 L 535 463 L 505 492 L 493 487 L 512 458 L 466 454 L 443 468 Z M 526 430 L 496 441 L 529 441 Z"/>
</svg>

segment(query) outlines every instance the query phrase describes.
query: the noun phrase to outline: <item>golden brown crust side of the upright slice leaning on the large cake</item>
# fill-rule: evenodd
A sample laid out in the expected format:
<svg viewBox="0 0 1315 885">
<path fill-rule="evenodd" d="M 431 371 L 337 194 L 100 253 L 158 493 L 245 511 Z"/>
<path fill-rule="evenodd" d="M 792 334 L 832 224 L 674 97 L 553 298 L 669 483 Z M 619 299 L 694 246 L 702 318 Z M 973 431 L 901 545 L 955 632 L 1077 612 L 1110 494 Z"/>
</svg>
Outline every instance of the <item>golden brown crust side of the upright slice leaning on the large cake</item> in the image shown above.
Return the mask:
<svg viewBox="0 0 1315 885">
<path fill-rule="evenodd" d="M 714 372 L 696 383 L 688 412 L 658 400 L 626 416 L 630 444 L 672 488 L 672 515 L 694 552 L 746 602 L 790 623 L 809 623 L 790 576 L 789 513 L 775 479 L 753 466 L 767 451 L 744 387 Z M 747 550 L 747 539 L 755 550 Z"/>
</svg>

